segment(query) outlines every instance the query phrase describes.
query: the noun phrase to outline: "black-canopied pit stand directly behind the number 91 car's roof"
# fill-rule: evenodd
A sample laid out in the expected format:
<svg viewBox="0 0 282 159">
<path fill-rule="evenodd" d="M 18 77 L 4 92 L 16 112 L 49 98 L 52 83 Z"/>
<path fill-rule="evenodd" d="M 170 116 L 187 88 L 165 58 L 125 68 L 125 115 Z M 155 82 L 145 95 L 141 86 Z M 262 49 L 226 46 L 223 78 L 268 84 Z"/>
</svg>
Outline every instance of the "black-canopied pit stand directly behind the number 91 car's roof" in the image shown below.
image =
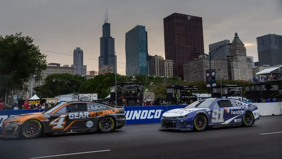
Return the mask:
<svg viewBox="0 0 282 159">
<path fill-rule="evenodd" d="M 212 98 L 233 98 L 242 100 L 243 89 L 238 85 L 217 85 L 212 87 Z M 222 93 L 222 95 L 221 95 Z"/>
</svg>

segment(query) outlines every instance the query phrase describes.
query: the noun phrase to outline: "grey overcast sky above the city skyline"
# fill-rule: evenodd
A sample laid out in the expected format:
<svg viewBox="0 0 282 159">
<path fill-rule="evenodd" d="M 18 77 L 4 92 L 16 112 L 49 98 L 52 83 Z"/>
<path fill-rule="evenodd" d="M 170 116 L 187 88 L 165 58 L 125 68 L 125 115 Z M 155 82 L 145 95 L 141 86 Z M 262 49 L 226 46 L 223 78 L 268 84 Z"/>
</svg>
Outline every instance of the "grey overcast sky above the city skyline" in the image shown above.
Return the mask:
<svg viewBox="0 0 282 159">
<path fill-rule="evenodd" d="M 117 62 L 125 63 L 125 33 L 145 25 L 151 55 L 164 56 L 163 18 L 182 13 L 203 18 L 205 53 L 208 45 L 233 40 L 237 32 L 247 55 L 258 61 L 256 37 L 282 35 L 281 0 L 0 0 L 0 34 L 23 32 L 41 50 L 98 59 L 105 12 L 115 38 Z M 71 65 L 73 58 L 42 51 L 47 62 Z M 98 61 L 84 59 L 87 71 L 98 71 Z M 125 64 L 117 64 L 125 75 Z"/>
</svg>

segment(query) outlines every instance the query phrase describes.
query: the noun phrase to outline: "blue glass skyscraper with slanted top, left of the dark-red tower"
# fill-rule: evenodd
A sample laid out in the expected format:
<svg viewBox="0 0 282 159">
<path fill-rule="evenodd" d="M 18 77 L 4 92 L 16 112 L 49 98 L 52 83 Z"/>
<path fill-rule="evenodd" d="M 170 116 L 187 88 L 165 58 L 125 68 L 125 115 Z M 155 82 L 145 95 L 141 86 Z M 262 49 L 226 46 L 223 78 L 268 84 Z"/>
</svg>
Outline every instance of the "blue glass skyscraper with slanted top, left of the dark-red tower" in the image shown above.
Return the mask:
<svg viewBox="0 0 282 159">
<path fill-rule="evenodd" d="M 137 25 L 125 33 L 125 74 L 127 76 L 133 76 L 136 70 L 135 75 L 148 75 L 147 50 L 145 26 Z"/>
</svg>

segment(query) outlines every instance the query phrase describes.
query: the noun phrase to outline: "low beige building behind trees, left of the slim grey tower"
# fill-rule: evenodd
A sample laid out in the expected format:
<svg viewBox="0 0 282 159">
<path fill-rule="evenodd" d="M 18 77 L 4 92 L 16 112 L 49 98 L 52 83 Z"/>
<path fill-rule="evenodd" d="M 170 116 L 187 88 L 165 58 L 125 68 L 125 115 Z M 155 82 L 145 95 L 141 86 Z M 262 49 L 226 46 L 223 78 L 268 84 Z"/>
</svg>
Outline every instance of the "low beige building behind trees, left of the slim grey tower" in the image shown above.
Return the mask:
<svg viewBox="0 0 282 159">
<path fill-rule="evenodd" d="M 41 75 L 42 75 L 42 80 L 39 82 L 35 82 L 34 80 L 32 81 L 32 83 L 28 83 L 29 84 L 29 88 L 28 91 L 26 92 L 26 97 L 27 98 L 31 98 L 30 97 L 30 85 L 32 84 L 32 88 L 35 88 L 37 86 L 43 85 L 44 84 L 44 79 L 51 74 L 54 73 L 70 73 L 72 75 L 74 75 L 74 68 L 73 67 L 67 67 L 69 65 L 64 65 L 63 67 L 58 67 L 58 64 L 54 64 L 54 65 L 47 65 L 46 70 L 43 70 Z"/>
</svg>

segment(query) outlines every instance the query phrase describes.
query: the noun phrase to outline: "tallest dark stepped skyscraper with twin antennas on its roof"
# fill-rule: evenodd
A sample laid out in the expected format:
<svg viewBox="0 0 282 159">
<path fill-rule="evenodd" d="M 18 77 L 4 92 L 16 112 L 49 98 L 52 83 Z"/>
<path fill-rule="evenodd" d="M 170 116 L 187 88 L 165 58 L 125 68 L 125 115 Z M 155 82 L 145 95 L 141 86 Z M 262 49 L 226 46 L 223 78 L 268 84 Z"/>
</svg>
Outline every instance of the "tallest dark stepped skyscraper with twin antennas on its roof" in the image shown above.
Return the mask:
<svg viewBox="0 0 282 159">
<path fill-rule="evenodd" d="M 99 56 L 99 72 L 102 71 L 102 66 L 111 65 L 113 67 L 113 73 L 116 73 L 116 55 L 114 53 L 114 38 L 111 37 L 111 24 L 105 15 L 103 24 L 103 36 L 100 37 L 100 56 Z"/>
</svg>

